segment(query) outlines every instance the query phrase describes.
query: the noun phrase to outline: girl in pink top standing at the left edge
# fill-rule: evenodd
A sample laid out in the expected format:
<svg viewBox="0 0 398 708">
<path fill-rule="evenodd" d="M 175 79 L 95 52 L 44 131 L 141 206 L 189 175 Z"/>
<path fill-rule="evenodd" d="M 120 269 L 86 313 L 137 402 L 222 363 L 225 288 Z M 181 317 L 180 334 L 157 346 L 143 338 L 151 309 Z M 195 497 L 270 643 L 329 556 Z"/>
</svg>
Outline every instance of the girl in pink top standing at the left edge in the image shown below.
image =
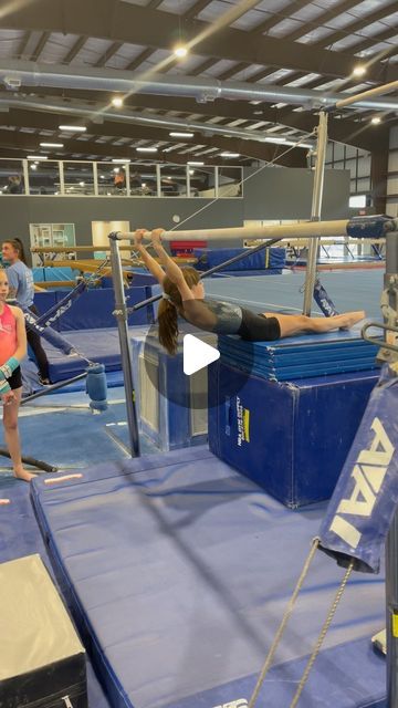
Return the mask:
<svg viewBox="0 0 398 708">
<path fill-rule="evenodd" d="M 18 409 L 22 394 L 20 362 L 27 355 L 27 331 L 22 310 L 7 304 L 8 294 L 7 273 L 0 269 L 0 395 L 4 438 L 14 477 L 29 482 L 35 475 L 23 468 L 18 431 Z"/>
</svg>

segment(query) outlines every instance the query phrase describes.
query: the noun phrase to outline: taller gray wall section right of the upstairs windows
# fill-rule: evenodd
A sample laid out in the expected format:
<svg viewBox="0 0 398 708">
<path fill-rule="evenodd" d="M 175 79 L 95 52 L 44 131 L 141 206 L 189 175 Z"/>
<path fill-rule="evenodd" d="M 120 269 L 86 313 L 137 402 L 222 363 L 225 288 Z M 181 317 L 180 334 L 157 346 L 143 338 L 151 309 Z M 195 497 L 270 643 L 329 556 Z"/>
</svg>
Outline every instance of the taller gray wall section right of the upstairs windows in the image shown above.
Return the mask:
<svg viewBox="0 0 398 708">
<path fill-rule="evenodd" d="M 253 170 L 245 170 L 248 177 Z M 314 173 L 265 167 L 244 183 L 244 219 L 310 219 Z M 349 171 L 325 171 L 322 218 L 348 218 Z"/>
</svg>

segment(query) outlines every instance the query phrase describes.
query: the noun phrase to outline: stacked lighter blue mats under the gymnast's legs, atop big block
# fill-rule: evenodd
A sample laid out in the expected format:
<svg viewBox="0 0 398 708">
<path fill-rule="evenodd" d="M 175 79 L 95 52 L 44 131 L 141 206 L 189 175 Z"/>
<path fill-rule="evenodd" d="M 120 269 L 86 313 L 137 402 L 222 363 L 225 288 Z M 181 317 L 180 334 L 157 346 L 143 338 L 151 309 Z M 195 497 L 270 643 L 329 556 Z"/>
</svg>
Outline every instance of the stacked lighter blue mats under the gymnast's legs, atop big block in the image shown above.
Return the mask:
<svg viewBox="0 0 398 708">
<path fill-rule="evenodd" d="M 276 342 L 244 342 L 237 336 L 219 336 L 224 362 L 271 381 L 291 381 L 377 367 L 378 347 L 365 342 L 360 330 L 305 334 Z"/>
</svg>

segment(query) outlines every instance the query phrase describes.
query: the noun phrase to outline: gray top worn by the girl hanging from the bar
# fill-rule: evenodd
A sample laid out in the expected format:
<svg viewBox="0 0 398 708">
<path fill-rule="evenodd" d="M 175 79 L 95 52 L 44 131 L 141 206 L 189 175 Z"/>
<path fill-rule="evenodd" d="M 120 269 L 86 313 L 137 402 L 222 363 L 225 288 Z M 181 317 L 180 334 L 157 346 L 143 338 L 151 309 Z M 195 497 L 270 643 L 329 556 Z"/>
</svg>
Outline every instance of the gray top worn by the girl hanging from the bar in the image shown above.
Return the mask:
<svg viewBox="0 0 398 708">
<path fill-rule="evenodd" d="M 237 334 L 242 309 L 220 300 L 185 300 L 181 315 L 199 330 L 216 334 Z"/>
</svg>

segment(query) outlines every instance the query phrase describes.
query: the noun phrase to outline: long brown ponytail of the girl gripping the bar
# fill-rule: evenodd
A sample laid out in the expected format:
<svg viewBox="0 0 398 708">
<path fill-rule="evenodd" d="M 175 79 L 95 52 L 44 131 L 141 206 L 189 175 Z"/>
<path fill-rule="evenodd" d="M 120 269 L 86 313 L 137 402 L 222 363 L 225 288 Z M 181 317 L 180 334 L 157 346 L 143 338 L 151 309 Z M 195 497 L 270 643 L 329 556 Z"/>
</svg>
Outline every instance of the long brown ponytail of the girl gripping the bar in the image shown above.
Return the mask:
<svg viewBox="0 0 398 708">
<path fill-rule="evenodd" d="M 200 277 L 195 268 L 181 268 L 181 271 L 188 288 L 198 284 Z M 163 298 L 159 304 L 159 342 L 169 354 L 176 354 L 178 346 L 178 310 L 182 308 L 182 300 L 176 283 L 168 275 L 163 282 L 163 289 L 169 299 Z"/>
</svg>

